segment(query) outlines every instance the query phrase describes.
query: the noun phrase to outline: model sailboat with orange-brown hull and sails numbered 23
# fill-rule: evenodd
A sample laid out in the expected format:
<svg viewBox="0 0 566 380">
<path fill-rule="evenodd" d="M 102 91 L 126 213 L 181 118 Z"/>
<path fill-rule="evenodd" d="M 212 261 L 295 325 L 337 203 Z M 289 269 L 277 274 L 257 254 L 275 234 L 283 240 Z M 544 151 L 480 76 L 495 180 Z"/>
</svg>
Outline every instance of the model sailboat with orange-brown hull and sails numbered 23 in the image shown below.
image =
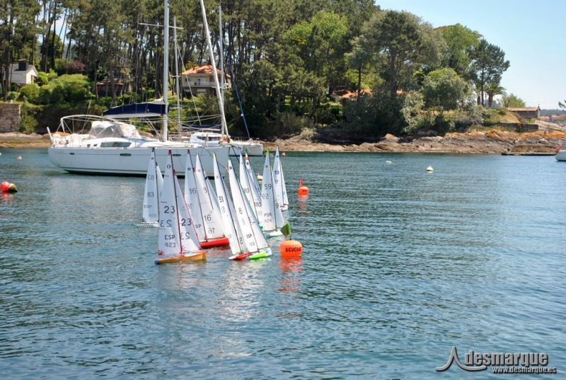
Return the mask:
<svg viewBox="0 0 566 380">
<path fill-rule="evenodd" d="M 159 199 L 158 258 L 155 263 L 202 260 L 206 253 L 200 250 L 195 227 L 173 169 L 171 151 L 168 154 L 170 159 L 166 164 Z"/>
</svg>

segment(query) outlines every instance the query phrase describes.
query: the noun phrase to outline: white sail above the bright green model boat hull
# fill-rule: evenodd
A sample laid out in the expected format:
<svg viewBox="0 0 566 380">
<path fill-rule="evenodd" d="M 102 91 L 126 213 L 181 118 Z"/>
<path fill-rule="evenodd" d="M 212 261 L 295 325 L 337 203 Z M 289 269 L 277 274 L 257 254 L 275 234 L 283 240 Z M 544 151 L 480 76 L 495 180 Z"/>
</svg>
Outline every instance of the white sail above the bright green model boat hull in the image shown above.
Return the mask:
<svg viewBox="0 0 566 380">
<path fill-rule="evenodd" d="M 242 232 L 243 241 L 246 243 L 248 252 L 258 252 L 262 248 L 267 248 L 267 241 L 263 236 L 258 220 L 250 207 L 240 183 L 236 179 L 236 172 L 232 166 L 232 162 L 228 159 L 228 177 L 230 182 L 230 190 L 234 209 L 236 211 L 236 220 Z"/>
</svg>

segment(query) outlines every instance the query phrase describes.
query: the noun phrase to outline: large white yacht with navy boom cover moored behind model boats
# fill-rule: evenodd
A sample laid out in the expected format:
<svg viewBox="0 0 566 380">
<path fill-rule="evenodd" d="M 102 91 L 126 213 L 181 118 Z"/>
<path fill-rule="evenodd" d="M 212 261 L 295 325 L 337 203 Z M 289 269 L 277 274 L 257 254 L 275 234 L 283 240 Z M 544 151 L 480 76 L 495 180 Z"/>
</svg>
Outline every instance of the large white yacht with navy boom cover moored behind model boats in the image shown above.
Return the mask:
<svg viewBox="0 0 566 380">
<path fill-rule="evenodd" d="M 206 14 L 203 8 L 203 21 L 206 22 Z M 168 133 L 168 59 L 169 59 L 169 0 L 164 0 L 164 22 L 163 28 L 163 99 L 154 100 L 151 103 L 123 105 L 111 108 L 105 112 L 105 116 L 97 115 L 71 115 L 62 117 L 57 132 L 50 133 L 52 146 L 47 149 L 49 158 L 54 166 L 62 168 L 70 173 L 94 173 L 112 175 L 145 175 L 146 163 L 151 154 L 151 149 L 161 147 L 173 149 L 173 160 L 180 168 L 185 163 L 187 149 L 192 154 L 199 153 L 204 168 L 212 173 L 212 155 L 224 166 L 228 159 L 229 144 L 221 146 L 203 146 L 190 142 L 171 141 Z M 214 64 L 212 43 L 207 30 L 210 57 Z M 214 76 L 216 78 L 216 76 Z M 219 84 L 216 78 L 217 93 Z M 220 97 L 219 97 L 220 98 Z M 219 103 L 222 103 L 219 100 Z M 159 139 L 141 137 L 133 124 L 122 122 L 119 119 L 136 117 L 137 120 L 146 122 Z M 154 127 L 151 117 L 161 119 L 162 131 Z M 223 129 L 221 134 L 226 138 L 227 128 L 224 115 L 222 116 Z M 232 148 L 233 149 L 233 148 Z M 164 167 L 166 156 L 156 156 L 156 159 Z M 182 174 L 182 173 L 180 173 Z"/>
</svg>

